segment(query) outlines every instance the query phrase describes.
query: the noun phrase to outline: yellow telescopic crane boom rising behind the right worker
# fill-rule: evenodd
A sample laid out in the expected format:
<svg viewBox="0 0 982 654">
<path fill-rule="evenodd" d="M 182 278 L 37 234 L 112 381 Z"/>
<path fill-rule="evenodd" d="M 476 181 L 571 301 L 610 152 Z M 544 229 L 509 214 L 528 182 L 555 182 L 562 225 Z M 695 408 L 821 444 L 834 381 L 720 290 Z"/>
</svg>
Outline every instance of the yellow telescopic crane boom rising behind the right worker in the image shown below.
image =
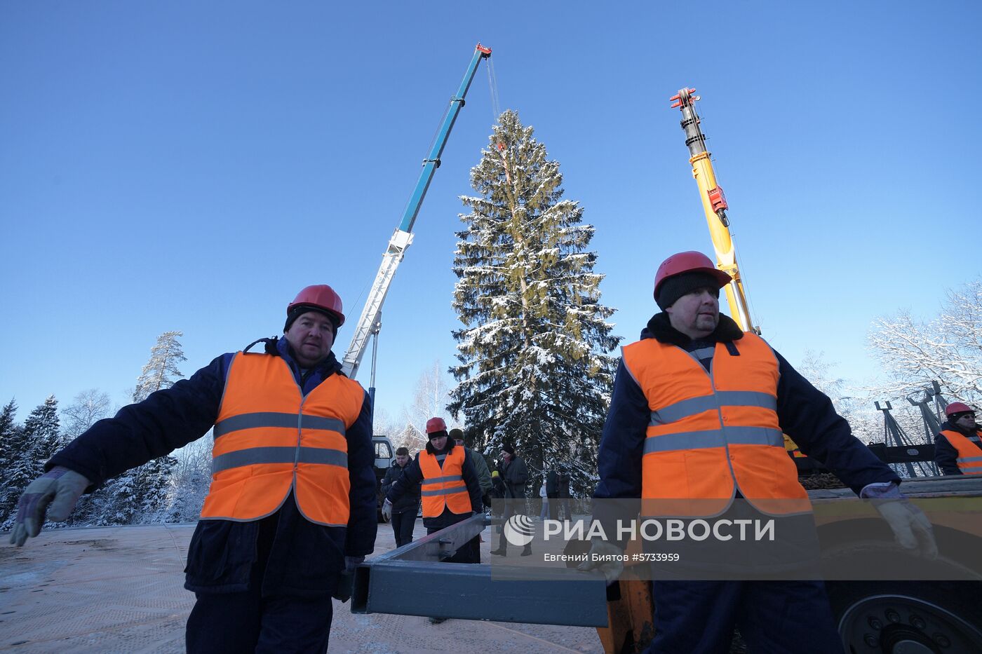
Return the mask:
<svg viewBox="0 0 982 654">
<path fill-rule="evenodd" d="M 695 178 L 702 196 L 702 209 L 706 214 L 713 248 L 716 250 L 716 266 L 733 277 L 733 281 L 726 287 L 730 312 L 740 329 L 759 334 L 760 328 L 750 319 L 750 307 L 743 292 L 743 278 L 736 266 L 736 247 L 730 235 L 730 220 L 727 218 L 727 209 L 730 207 L 723 189 L 716 182 L 710 152 L 706 149 L 706 136 L 699 128 L 699 115 L 695 113 L 695 101 L 699 96 L 693 95 L 694 92 L 694 88 L 680 89 L 672 96 L 672 107 L 678 107 L 682 111 L 682 131 L 685 133 L 685 145 L 688 146 L 690 155 L 688 162 L 692 165 L 692 177 Z"/>
</svg>

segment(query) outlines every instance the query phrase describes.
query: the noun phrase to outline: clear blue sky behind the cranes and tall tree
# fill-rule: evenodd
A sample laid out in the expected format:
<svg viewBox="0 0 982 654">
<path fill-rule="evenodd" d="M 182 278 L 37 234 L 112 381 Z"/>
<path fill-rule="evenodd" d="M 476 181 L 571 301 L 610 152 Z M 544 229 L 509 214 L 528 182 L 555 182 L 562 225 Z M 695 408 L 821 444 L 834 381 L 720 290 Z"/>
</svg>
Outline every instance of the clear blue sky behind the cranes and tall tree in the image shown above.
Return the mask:
<svg viewBox="0 0 982 654">
<path fill-rule="evenodd" d="M 764 336 L 879 373 L 870 321 L 980 273 L 974 2 L 0 5 L 0 402 L 125 403 L 157 335 L 186 375 L 361 301 L 481 41 L 562 164 L 631 340 L 666 255 L 711 244 L 669 97 L 694 86 Z M 484 64 L 383 311 L 379 406 L 455 353 L 451 271 L 494 114 Z M 367 385 L 367 366 L 359 381 Z"/>
</svg>

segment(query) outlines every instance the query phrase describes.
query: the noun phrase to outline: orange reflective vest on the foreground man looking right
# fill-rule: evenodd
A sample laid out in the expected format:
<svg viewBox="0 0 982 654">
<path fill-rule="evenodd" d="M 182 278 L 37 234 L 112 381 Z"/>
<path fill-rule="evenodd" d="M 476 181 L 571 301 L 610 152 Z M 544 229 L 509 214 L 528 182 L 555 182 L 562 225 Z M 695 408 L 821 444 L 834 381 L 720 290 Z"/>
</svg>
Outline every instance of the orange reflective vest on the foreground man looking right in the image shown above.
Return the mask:
<svg viewBox="0 0 982 654">
<path fill-rule="evenodd" d="M 643 515 L 716 515 L 737 489 L 768 514 L 811 510 L 778 424 L 778 359 L 755 334 L 737 345 L 735 356 L 716 344 L 711 372 L 694 354 L 655 339 L 623 349 L 651 410 Z"/>
</svg>

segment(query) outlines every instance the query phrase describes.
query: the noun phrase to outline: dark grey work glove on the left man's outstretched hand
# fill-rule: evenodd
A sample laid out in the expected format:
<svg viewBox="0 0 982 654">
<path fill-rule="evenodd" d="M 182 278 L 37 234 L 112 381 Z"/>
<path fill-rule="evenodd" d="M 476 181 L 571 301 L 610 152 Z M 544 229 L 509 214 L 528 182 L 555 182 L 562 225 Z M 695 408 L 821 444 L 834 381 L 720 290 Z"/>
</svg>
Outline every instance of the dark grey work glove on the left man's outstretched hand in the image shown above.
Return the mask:
<svg viewBox="0 0 982 654">
<path fill-rule="evenodd" d="M 68 519 L 89 485 L 88 479 L 62 465 L 55 465 L 31 481 L 17 503 L 17 520 L 10 532 L 10 542 L 21 547 L 27 536 L 33 538 L 40 533 L 45 514 L 52 522 Z"/>
</svg>

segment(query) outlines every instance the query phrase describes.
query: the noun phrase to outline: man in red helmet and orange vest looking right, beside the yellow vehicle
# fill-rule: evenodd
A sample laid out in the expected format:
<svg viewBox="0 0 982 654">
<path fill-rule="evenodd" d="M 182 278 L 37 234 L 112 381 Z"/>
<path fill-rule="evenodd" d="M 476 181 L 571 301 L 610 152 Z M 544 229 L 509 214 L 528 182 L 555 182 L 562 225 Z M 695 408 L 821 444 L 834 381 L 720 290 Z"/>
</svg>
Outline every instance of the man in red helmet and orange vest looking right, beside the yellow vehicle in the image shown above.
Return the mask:
<svg viewBox="0 0 982 654">
<path fill-rule="evenodd" d="M 648 321 L 641 341 L 624 348 L 600 442 L 594 498 L 672 502 L 729 493 L 731 506 L 740 497 L 788 497 L 795 506 L 807 506 L 783 431 L 857 494 L 902 501 L 897 474 L 852 436 L 832 402 L 760 337 L 720 314 L 719 291 L 730 281 L 700 252 L 675 254 L 659 267 L 654 295 L 662 312 Z M 937 556 L 927 518 L 912 506 L 894 508 L 890 517 L 884 511 L 891 526 L 902 523 L 898 528 L 905 527 L 908 537 L 912 531 L 919 538 L 901 544 L 919 546 L 927 558 Z M 591 559 L 594 554 L 620 556 L 623 549 L 598 539 Z M 599 569 L 613 582 L 623 564 L 611 557 L 610 563 L 590 561 L 580 568 Z M 750 651 L 842 651 L 819 581 L 656 577 L 652 595 L 655 635 L 649 653 L 728 652 L 735 626 Z"/>
</svg>

